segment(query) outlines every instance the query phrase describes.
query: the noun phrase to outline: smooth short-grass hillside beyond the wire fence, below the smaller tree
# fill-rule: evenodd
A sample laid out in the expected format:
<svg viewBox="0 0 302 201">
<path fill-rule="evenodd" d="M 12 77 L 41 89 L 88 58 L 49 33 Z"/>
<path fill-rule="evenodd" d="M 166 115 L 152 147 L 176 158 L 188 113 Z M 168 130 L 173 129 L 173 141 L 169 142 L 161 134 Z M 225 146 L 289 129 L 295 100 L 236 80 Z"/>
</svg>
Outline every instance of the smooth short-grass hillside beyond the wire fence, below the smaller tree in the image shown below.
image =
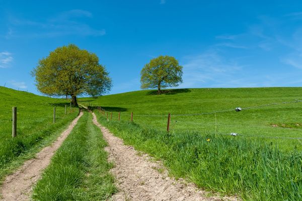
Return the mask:
<svg viewBox="0 0 302 201">
<path fill-rule="evenodd" d="M 165 130 L 171 113 L 173 132 L 238 133 L 240 137 L 262 137 L 282 150 L 293 150 L 301 148 L 301 143 L 291 138 L 302 137 L 302 102 L 283 103 L 297 99 L 302 100 L 301 87 L 174 89 L 161 95 L 155 90 L 141 90 L 80 101 L 113 111 L 113 120 L 120 111 L 121 120 L 129 121 L 133 112 L 135 123 Z M 250 109 L 236 112 L 236 107 Z"/>
</svg>

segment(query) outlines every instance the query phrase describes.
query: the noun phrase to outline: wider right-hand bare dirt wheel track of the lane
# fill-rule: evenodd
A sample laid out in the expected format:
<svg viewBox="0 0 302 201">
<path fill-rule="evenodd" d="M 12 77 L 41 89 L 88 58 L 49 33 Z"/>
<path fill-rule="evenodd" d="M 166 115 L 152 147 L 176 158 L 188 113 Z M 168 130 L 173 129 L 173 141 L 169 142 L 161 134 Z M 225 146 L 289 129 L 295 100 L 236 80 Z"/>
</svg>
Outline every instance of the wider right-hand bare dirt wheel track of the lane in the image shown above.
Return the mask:
<svg viewBox="0 0 302 201">
<path fill-rule="evenodd" d="M 198 189 L 193 183 L 169 177 L 161 162 L 124 145 L 120 138 L 98 123 L 94 113 L 93 122 L 108 142 L 109 160 L 115 164 L 111 171 L 120 190 L 113 195 L 114 200 L 239 200 L 236 197 L 209 196 L 212 193 Z"/>
</svg>

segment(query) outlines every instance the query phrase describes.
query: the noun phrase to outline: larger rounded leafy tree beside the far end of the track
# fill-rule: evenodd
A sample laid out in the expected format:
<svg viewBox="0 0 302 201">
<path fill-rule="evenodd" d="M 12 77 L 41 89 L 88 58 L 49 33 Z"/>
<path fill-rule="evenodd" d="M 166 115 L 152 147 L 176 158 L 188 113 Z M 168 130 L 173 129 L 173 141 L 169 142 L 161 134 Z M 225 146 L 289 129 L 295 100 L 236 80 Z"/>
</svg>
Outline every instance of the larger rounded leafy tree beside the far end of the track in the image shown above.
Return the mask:
<svg viewBox="0 0 302 201">
<path fill-rule="evenodd" d="M 77 96 L 97 96 L 111 89 L 111 78 L 99 64 L 96 54 L 70 44 L 58 47 L 39 60 L 32 71 L 37 89 L 47 95 L 70 95 L 77 106 Z"/>
</svg>

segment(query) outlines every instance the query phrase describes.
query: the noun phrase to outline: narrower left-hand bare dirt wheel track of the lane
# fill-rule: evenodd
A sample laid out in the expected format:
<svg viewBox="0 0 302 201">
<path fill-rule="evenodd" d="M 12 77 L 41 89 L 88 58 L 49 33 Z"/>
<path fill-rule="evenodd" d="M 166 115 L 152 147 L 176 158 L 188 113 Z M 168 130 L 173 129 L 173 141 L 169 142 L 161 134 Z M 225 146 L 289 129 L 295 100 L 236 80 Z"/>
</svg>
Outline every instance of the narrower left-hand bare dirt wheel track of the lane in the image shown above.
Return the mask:
<svg viewBox="0 0 302 201">
<path fill-rule="evenodd" d="M 83 112 L 71 122 L 51 146 L 43 148 L 35 158 L 26 161 L 21 168 L 6 178 L 1 186 L 3 200 L 30 200 L 33 185 L 40 179 L 43 169 L 48 166 L 51 157 L 67 138 L 82 115 Z"/>
</svg>

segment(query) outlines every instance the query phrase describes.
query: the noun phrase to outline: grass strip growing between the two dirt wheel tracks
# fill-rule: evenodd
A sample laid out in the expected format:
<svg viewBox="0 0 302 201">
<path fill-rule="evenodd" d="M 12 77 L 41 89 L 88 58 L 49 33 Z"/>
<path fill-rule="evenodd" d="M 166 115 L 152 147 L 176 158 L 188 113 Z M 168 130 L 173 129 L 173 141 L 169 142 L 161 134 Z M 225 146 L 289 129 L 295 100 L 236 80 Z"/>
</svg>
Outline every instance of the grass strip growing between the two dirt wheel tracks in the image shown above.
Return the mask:
<svg viewBox="0 0 302 201">
<path fill-rule="evenodd" d="M 100 129 L 85 112 L 45 169 L 34 200 L 106 200 L 116 191 Z"/>
</svg>

